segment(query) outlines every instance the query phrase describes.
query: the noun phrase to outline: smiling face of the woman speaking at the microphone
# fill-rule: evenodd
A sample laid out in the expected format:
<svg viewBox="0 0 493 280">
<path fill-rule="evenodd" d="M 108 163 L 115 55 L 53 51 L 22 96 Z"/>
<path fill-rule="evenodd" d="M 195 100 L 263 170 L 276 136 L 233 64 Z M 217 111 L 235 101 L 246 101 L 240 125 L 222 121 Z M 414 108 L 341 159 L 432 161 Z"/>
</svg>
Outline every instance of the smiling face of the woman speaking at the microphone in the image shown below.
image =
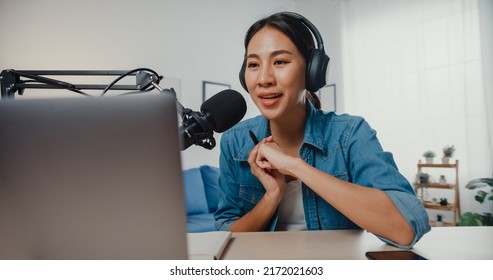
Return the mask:
<svg viewBox="0 0 493 280">
<path fill-rule="evenodd" d="M 277 120 L 304 114 L 305 69 L 303 55 L 284 33 L 264 27 L 252 37 L 245 82 L 262 115 Z"/>
</svg>

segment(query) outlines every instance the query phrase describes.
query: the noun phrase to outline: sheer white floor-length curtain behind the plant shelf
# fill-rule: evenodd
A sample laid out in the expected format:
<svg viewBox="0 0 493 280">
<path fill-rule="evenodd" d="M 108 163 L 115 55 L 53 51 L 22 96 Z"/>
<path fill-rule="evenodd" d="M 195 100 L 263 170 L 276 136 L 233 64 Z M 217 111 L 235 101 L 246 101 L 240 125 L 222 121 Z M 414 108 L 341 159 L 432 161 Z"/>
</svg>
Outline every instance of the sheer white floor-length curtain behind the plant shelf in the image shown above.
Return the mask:
<svg viewBox="0 0 493 280">
<path fill-rule="evenodd" d="M 344 111 L 369 121 L 410 181 L 423 152 L 441 161 L 455 145 L 461 212 L 475 211 L 464 186 L 492 175 L 477 0 L 341 5 Z"/>
</svg>

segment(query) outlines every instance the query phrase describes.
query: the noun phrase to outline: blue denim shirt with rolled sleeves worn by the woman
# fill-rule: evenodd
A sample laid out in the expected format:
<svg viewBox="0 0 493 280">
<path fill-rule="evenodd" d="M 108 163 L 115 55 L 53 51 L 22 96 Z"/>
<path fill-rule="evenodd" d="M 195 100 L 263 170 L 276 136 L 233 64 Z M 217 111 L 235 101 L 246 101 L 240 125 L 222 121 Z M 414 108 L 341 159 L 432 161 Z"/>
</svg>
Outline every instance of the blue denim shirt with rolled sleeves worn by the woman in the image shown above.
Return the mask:
<svg viewBox="0 0 493 280">
<path fill-rule="evenodd" d="M 229 230 L 265 193 L 247 162 L 248 152 L 254 146 L 249 130 L 258 139 L 270 135 L 268 120 L 257 116 L 240 122 L 221 138 L 219 205 L 215 213 L 218 230 Z M 411 248 L 430 230 L 428 215 L 410 183 L 398 171 L 392 154 L 382 150 L 375 130 L 363 118 L 324 112 L 307 102 L 299 155 L 308 164 L 341 180 L 377 188 L 388 195 L 413 229 L 415 239 L 410 246 L 401 246 L 378 236 L 385 243 Z M 302 193 L 308 230 L 360 228 L 305 184 Z M 273 231 L 276 221 L 277 213 L 266 230 Z"/>
</svg>

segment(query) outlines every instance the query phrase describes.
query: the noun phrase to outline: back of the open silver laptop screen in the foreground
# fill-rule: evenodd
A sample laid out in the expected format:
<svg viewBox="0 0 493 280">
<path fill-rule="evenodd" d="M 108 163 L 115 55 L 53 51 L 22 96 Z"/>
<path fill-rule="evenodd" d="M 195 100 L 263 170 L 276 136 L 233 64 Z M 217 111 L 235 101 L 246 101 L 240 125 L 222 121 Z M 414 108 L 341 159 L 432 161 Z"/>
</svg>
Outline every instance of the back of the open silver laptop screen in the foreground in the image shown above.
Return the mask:
<svg viewBox="0 0 493 280">
<path fill-rule="evenodd" d="M 166 96 L 0 101 L 0 259 L 186 259 Z"/>
</svg>

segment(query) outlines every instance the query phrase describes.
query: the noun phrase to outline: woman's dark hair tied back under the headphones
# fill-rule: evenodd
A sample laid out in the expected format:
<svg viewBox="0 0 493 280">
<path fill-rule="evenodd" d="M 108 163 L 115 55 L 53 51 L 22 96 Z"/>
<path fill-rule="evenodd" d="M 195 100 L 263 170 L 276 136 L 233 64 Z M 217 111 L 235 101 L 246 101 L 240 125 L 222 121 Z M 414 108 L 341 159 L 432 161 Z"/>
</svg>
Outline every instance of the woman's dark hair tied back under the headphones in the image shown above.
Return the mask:
<svg viewBox="0 0 493 280">
<path fill-rule="evenodd" d="M 310 52 L 315 49 L 315 43 L 313 41 L 312 33 L 299 19 L 292 16 L 290 13 L 284 12 L 270 15 L 255 22 L 252 26 L 250 26 L 245 36 L 245 54 L 252 37 L 260 29 L 267 26 L 275 28 L 288 36 L 288 38 L 291 40 L 291 42 L 293 42 L 301 55 L 303 55 L 306 64 L 308 64 L 308 61 L 310 59 Z M 307 99 L 312 102 L 315 108 L 320 109 L 321 104 L 317 94 L 310 91 L 307 92 Z"/>
</svg>

